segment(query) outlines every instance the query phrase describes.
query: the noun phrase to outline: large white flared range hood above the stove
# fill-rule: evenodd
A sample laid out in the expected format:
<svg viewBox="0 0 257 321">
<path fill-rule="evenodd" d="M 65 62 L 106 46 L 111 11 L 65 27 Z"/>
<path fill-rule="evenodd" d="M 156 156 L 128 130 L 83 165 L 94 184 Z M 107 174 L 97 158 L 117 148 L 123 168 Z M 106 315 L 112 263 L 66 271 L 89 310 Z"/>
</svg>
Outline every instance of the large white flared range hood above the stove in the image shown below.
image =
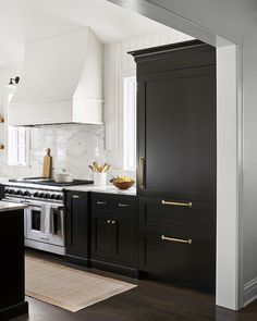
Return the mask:
<svg viewBox="0 0 257 321">
<path fill-rule="evenodd" d="M 102 45 L 89 27 L 25 47 L 9 125 L 102 122 Z"/>
</svg>

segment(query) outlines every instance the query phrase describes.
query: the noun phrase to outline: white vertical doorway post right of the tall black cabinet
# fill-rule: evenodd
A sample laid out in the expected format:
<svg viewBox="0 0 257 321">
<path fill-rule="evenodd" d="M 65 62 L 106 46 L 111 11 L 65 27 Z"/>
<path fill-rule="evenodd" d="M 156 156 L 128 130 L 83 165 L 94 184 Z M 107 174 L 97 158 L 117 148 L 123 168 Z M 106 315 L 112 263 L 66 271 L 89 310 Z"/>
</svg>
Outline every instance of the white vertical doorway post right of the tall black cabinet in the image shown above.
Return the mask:
<svg viewBox="0 0 257 321">
<path fill-rule="evenodd" d="M 217 288 L 216 303 L 237 301 L 237 144 L 236 54 L 232 46 L 217 49 Z M 234 95 L 227 95 L 234 92 Z M 228 120 L 230 122 L 228 123 Z M 229 229 L 228 229 L 229 226 Z M 229 230 L 229 233 L 228 233 Z M 229 255 L 228 255 L 229 254 Z M 225 282 L 224 282 L 225 280 Z M 236 282 L 235 282 L 236 281 Z"/>
</svg>

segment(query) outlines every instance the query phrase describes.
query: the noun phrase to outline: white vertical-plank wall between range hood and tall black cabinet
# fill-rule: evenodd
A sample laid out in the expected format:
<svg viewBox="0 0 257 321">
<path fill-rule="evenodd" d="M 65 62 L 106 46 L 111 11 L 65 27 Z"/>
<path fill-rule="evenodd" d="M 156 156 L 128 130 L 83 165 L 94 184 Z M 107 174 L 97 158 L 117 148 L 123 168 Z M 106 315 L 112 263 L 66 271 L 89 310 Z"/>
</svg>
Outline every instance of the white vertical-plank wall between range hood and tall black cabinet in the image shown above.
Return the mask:
<svg viewBox="0 0 257 321">
<path fill-rule="evenodd" d="M 178 30 L 131 39 L 105 46 L 105 125 L 107 159 L 113 163 L 117 172 L 122 169 L 122 81 L 125 76 L 136 75 L 136 63 L 128 51 L 150 48 L 192 39 Z M 130 175 L 135 173 L 130 172 Z"/>
</svg>

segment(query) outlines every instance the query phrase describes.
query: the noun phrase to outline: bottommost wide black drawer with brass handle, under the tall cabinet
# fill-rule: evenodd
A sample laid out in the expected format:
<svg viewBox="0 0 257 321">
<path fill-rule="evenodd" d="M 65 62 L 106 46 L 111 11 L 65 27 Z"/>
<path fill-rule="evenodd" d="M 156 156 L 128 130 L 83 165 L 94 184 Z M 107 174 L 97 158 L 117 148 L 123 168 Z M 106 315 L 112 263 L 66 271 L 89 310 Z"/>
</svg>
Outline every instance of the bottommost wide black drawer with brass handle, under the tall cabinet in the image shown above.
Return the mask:
<svg viewBox="0 0 257 321">
<path fill-rule="evenodd" d="M 192 236 L 146 232 L 139 238 L 139 270 L 159 274 L 167 281 L 185 281 L 215 286 L 215 240 Z"/>
</svg>

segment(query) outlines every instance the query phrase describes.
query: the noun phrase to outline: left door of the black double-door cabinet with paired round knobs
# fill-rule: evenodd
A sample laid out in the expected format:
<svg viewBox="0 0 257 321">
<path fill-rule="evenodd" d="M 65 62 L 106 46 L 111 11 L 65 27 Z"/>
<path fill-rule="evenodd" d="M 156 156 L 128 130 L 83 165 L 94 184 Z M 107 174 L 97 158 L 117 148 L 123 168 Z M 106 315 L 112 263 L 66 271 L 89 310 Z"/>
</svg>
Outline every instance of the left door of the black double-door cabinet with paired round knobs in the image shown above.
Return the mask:
<svg viewBox="0 0 257 321">
<path fill-rule="evenodd" d="M 112 260 L 113 225 L 111 215 L 102 212 L 91 214 L 91 258 Z"/>
</svg>

